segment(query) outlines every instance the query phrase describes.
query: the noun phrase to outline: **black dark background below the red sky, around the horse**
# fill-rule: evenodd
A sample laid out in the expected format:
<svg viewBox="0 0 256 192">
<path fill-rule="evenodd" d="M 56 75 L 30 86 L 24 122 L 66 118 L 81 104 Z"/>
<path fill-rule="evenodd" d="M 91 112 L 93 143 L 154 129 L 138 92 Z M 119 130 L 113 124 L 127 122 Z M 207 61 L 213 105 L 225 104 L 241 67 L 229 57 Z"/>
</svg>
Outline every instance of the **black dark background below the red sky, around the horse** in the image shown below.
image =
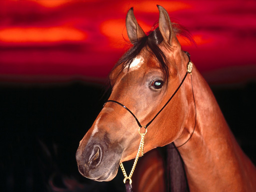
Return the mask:
<svg viewBox="0 0 256 192">
<path fill-rule="evenodd" d="M 113 181 L 99 183 L 83 178 L 76 165 L 79 141 L 105 101 L 102 85 L 2 84 L 0 90 L 3 191 L 124 191 L 120 170 Z M 255 164 L 255 82 L 212 90 Z"/>
</svg>

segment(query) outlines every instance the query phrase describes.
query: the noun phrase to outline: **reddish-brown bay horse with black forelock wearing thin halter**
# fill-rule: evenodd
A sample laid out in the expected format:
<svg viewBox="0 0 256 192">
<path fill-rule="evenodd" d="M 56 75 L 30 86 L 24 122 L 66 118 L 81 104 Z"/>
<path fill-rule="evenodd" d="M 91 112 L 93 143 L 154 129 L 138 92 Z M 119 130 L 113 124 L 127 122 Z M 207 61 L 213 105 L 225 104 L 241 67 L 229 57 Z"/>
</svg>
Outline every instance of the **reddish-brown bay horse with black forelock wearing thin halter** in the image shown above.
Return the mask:
<svg viewBox="0 0 256 192">
<path fill-rule="evenodd" d="M 127 13 L 133 46 L 110 72 L 109 100 L 80 141 L 79 172 L 110 181 L 120 163 L 173 142 L 189 191 L 256 191 L 255 166 L 239 147 L 207 82 L 181 49 L 176 25 L 163 7 L 157 7 L 158 27 L 147 35 L 133 8 Z M 163 166 L 153 165 L 148 174 L 163 178 L 158 174 Z M 145 186 L 149 181 L 137 182 Z"/>
</svg>

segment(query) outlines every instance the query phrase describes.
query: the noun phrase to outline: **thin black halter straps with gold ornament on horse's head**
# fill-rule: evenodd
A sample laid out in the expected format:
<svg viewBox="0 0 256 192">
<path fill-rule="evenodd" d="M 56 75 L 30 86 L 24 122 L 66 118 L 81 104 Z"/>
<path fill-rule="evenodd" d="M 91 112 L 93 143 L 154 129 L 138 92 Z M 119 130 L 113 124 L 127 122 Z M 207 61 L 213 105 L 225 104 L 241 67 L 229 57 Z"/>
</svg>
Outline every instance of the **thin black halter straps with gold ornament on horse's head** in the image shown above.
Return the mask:
<svg viewBox="0 0 256 192">
<path fill-rule="evenodd" d="M 170 102 L 170 100 L 172 100 L 172 98 L 174 97 L 174 95 L 178 92 L 179 88 L 182 86 L 184 80 L 186 79 L 187 74 L 188 74 L 188 73 L 191 74 L 193 64 L 192 64 L 191 61 L 190 61 L 190 54 L 189 54 L 187 51 L 185 51 L 185 53 L 187 54 L 189 61 L 188 61 L 188 63 L 187 63 L 187 72 L 186 72 L 184 78 L 182 79 L 182 81 L 180 82 L 178 88 L 174 91 L 174 93 L 172 94 L 172 96 L 170 97 L 170 99 L 169 99 L 169 100 L 165 103 L 165 105 L 162 107 L 162 109 L 160 109 L 160 110 L 158 111 L 158 113 L 154 116 L 154 118 L 153 118 L 150 122 L 148 122 L 146 125 L 141 125 L 141 123 L 140 123 L 139 120 L 136 118 L 136 116 L 132 113 L 132 111 L 131 111 L 130 109 L 128 109 L 128 108 L 127 108 L 125 105 L 123 105 L 122 103 L 120 103 L 120 102 L 118 102 L 118 101 L 114 101 L 114 100 L 108 100 L 108 101 L 106 101 L 106 103 L 107 103 L 107 102 L 113 102 L 113 103 L 117 103 L 117 104 L 121 105 L 123 108 L 125 108 L 127 111 L 129 111 L 129 112 L 132 114 L 132 116 L 134 117 L 134 119 L 136 120 L 136 122 L 137 122 L 137 124 L 138 124 L 138 126 L 139 126 L 140 128 L 141 128 L 141 127 L 144 127 L 144 128 L 146 129 L 146 128 L 155 120 L 155 118 L 159 115 L 159 113 L 161 113 L 161 111 L 166 107 L 166 105 Z M 195 126 L 194 126 L 193 132 L 191 133 L 191 135 L 190 135 L 190 137 L 188 138 L 188 140 L 189 140 L 189 139 L 191 138 L 191 136 L 193 135 L 193 133 L 194 133 L 194 131 L 195 131 L 195 127 L 196 127 L 196 103 L 195 103 L 195 97 L 194 97 L 194 91 L 193 91 L 193 84 L 192 84 L 192 74 L 191 74 L 191 87 L 192 87 L 192 93 L 193 93 L 193 99 L 194 99 L 194 106 L 195 106 Z M 105 104 L 106 104 L 106 103 L 105 103 Z M 104 105 L 105 105 L 105 104 L 104 104 Z M 187 140 L 185 143 L 187 143 L 188 140 Z M 185 143 L 183 143 L 182 145 L 180 145 L 180 146 L 178 146 L 178 147 L 183 146 Z M 177 147 L 176 147 L 176 148 L 177 148 Z"/>
</svg>

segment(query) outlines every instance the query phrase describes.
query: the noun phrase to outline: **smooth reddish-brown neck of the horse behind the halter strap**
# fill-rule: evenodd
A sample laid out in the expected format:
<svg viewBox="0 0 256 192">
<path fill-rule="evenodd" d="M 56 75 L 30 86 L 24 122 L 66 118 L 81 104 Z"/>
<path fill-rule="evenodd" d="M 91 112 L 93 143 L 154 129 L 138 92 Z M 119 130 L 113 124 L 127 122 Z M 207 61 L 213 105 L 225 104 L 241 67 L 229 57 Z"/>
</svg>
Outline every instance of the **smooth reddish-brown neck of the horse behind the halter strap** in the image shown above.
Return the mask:
<svg viewBox="0 0 256 192">
<path fill-rule="evenodd" d="M 240 149 L 204 78 L 194 68 L 192 73 L 196 128 L 190 140 L 178 148 L 190 191 L 250 191 L 245 180 L 250 180 L 250 176 L 255 178 L 255 167 Z M 193 131 L 193 110 L 191 105 L 189 124 L 183 134 Z M 180 141 L 175 144 L 178 146 Z M 253 184 L 250 185 L 252 188 Z"/>
</svg>

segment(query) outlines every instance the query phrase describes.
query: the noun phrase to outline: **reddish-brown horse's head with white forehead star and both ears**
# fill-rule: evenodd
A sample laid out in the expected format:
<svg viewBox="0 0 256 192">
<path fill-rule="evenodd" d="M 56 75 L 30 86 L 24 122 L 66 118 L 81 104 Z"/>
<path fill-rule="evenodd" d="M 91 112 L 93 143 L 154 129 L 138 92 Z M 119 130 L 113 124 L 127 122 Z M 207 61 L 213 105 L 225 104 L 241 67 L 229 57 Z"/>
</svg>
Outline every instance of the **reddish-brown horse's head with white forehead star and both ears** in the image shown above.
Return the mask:
<svg viewBox="0 0 256 192">
<path fill-rule="evenodd" d="M 121 162 L 135 158 L 141 138 L 134 116 L 141 125 L 154 119 L 187 71 L 189 58 L 177 40 L 178 29 L 170 22 L 166 10 L 157 7 L 158 27 L 148 35 L 138 25 L 133 8 L 127 13 L 126 29 L 133 47 L 110 73 L 109 100 L 125 105 L 132 113 L 114 102 L 104 105 L 76 153 L 79 171 L 85 177 L 109 181 Z M 193 104 L 190 90 L 191 80 L 187 78 L 147 127 L 144 152 L 173 141 L 176 144 L 186 141 L 188 133 L 184 133 L 184 127 L 190 123 L 188 119 L 193 120 L 188 117 L 194 115 L 188 107 Z"/>
</svg>

